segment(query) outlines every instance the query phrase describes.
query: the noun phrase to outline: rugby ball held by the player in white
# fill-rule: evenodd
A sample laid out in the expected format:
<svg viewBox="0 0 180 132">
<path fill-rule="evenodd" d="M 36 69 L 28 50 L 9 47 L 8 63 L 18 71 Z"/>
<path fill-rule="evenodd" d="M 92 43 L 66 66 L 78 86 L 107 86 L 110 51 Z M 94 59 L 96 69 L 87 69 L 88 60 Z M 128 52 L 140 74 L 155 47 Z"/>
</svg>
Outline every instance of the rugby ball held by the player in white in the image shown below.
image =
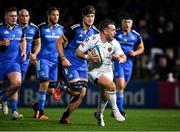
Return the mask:
<svg viewBox="0 0 180 132">
<path fill-rule="evenodd" d="M 92 50 L 91 50 L 91 53 L 93 55 L 97 55 L 98 58 L 99 58 L 99 62 L 103 62 L 104 59 L 106 58 L 106 52 L 105 52 L 105 49 L 104 47 L 102 47 L 101 45 L 95 45 Z"/>
</svg>

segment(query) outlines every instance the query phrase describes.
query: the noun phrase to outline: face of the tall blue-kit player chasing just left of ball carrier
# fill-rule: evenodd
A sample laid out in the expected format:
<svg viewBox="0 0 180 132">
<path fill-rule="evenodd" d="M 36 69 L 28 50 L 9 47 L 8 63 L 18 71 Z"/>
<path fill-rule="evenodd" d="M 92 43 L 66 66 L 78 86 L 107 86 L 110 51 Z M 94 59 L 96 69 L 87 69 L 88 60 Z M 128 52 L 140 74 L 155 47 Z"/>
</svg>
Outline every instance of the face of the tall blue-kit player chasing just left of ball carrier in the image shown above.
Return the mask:
<svg viewBox="0 0 180 132">
<path fill-rule="evenodd" d="M 86 26 L 92 26 L 94 23 L 95 14 L 88 14 L 86 16 L 83 16 L 83 22 Z"/>
</svg>

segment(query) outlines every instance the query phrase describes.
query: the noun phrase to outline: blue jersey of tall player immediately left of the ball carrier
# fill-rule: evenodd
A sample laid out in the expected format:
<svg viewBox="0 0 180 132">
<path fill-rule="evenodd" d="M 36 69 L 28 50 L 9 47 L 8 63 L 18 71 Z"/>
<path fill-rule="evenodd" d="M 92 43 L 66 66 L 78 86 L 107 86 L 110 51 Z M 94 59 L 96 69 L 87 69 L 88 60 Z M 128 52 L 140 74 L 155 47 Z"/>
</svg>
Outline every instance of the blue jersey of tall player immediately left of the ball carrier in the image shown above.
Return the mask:
<svg viewBox="0 0 180 132">
<path fill-rule="evenodd" d="M 88 37 L 99 33 L 95 26 L 92 26 L 87 33 L 84 32 L 82 24 L 74 24 L 63 35 L 63 38 L 68 42 L 64 49 L 65 56 L 70 60 L 72 67 L 75 69 L 87 69 L 87 61 L 75 56 L 76 49 Z"/>
</svg>

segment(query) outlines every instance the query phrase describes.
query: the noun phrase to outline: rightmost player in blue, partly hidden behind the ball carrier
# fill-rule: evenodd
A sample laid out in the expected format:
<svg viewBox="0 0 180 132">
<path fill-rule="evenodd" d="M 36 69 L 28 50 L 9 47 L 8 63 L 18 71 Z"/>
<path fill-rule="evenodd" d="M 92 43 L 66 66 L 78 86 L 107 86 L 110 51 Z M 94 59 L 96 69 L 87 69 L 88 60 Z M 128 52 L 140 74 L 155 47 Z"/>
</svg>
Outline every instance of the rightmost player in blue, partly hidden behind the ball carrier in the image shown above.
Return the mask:
<svg viewBox="0 0 180 132">
<path fill-rule="evenodd" d="M 114 81 L 117 87 L 117 106 L 122 115 L 126 115 L 123 110 L 124 89 L 129 82 L 132 69 L 133 57 L 144 52 L 144 44 L 139 33 L 132 30 L 133 20 L 126 17 L 122 20 L 122 29 L 117 29 L 115 38 L 122 47 L 122 50 L 127 56 L 127 61 L 119 64 L 114 62 Z"/>
</svg>

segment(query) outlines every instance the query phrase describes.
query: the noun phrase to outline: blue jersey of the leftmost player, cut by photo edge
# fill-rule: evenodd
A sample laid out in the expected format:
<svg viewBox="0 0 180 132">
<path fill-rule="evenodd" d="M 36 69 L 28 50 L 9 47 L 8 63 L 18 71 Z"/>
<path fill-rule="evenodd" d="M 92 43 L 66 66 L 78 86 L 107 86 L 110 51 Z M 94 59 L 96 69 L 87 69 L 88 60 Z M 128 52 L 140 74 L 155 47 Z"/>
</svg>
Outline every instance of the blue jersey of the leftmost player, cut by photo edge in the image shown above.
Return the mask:
<svg viewBox="0 0 180 132">
<path fill-rule="evenodd" d="M 4 23 L 0 24 L 0 41 L 5 39 L 9 39 L 10 44 L 5 50 L 0 51 L 0 62 L 14 62 L 18 57 L 21 40 L 25 39 L 21 26 L 16 24 L 14 27 L 9 27 Z M 0 48 L 3 46 L 1 45 Z"/>
</svg>

